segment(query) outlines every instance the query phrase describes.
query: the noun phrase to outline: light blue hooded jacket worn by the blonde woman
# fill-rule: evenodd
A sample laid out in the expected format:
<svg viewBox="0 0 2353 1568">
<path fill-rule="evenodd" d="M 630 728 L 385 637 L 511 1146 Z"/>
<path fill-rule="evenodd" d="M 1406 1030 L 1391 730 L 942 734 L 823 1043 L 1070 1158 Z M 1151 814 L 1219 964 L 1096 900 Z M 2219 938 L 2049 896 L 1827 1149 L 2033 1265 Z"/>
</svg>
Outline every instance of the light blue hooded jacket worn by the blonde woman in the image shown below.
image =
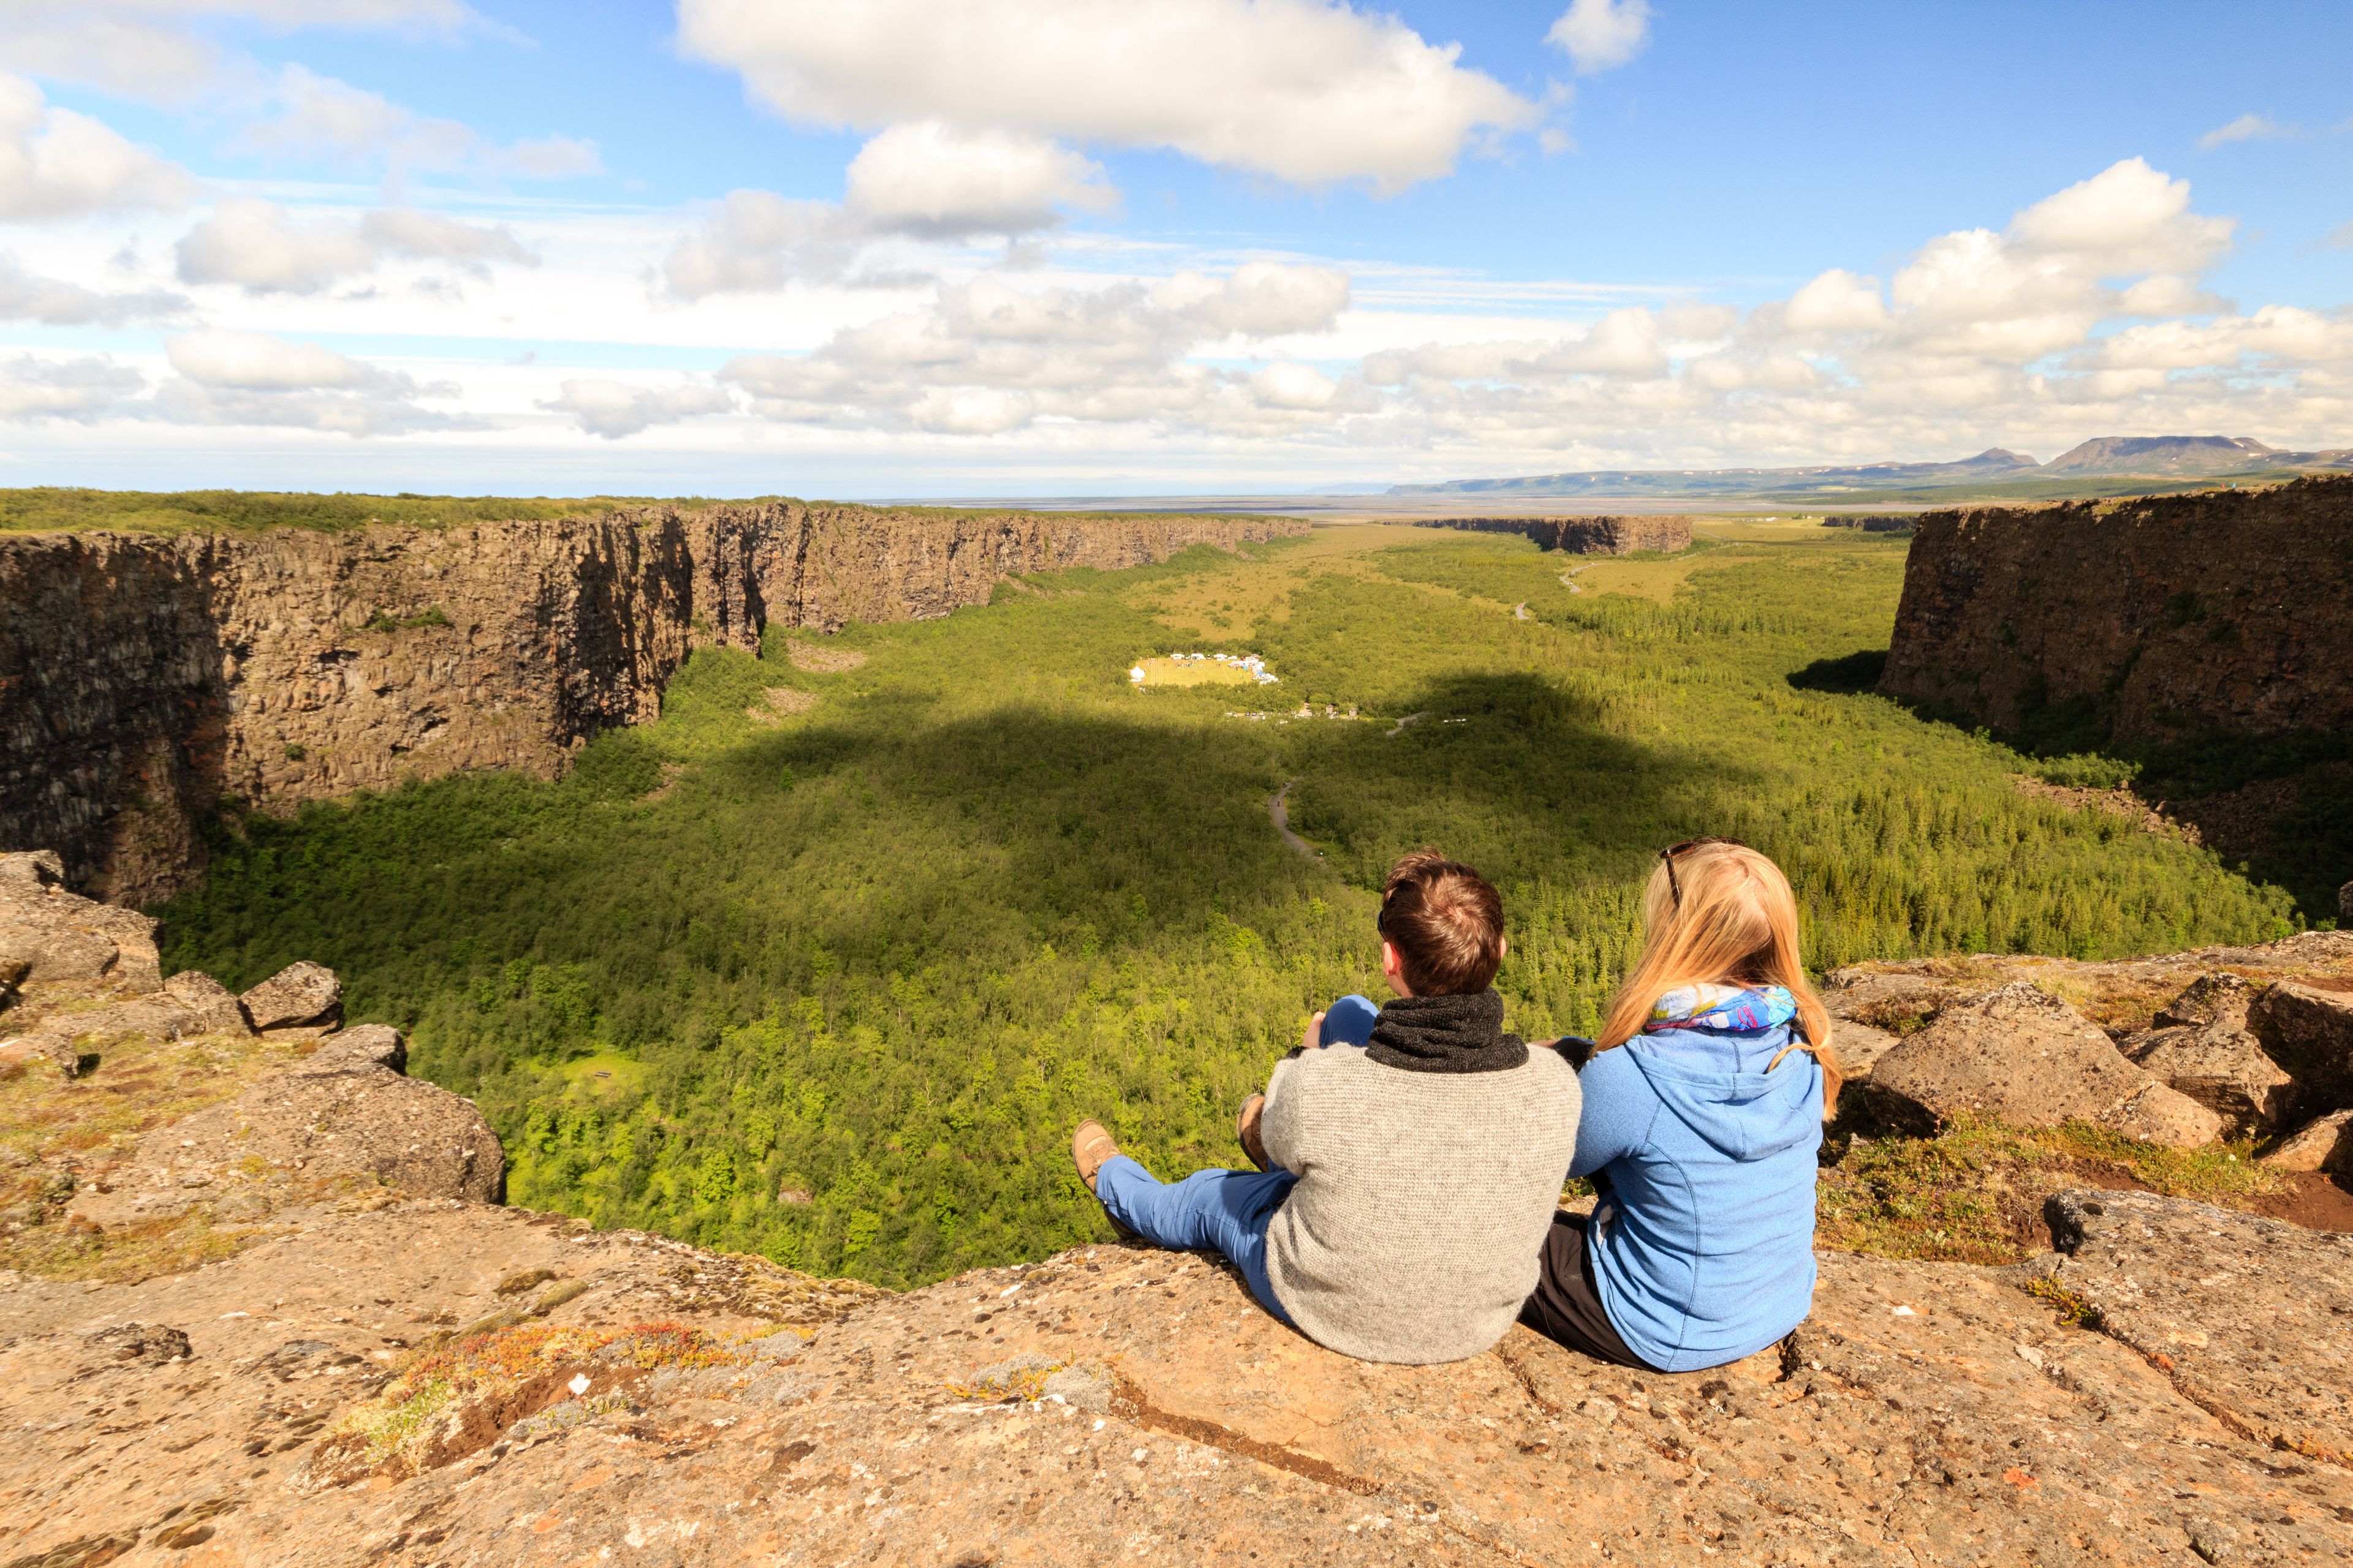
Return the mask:
<svg viewBox="0 0 2353 1568">
<path fill-rule="evenodd" d="M 1569 1175 L 1605 1173 L 1593 1281 L 1626 1349 L 1664 1373 L 1765 1349 L 1814 1307 L 1821 1065 L 1791 1025 L 1668 1027 L 1598 1051 Z"/>
</svg>

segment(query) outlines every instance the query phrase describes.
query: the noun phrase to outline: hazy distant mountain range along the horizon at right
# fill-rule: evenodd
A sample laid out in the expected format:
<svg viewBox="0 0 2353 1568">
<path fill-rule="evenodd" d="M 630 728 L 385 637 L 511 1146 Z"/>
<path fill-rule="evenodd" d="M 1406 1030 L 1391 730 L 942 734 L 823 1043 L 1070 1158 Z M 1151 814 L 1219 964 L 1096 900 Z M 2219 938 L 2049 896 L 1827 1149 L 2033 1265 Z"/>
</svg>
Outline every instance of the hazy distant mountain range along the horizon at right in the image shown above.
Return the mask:
<svg viewBox="0 0 2353 1568">
<path fill-rule="evenodd" d="M 1958 463 L 1861 463 L 1854 468 L 1614 468 L 1393 484 L 1391 496 L 1781 496 L 1845 501 L 1878 491 L 2033 487 L 2115 475 L 2181 480 L 2271 470 L 2353 468 L 2353 449 L 2280 451 L 2233 435 L 2101 435 L 2049 463 L 1993 447 Z"/>
</svg>

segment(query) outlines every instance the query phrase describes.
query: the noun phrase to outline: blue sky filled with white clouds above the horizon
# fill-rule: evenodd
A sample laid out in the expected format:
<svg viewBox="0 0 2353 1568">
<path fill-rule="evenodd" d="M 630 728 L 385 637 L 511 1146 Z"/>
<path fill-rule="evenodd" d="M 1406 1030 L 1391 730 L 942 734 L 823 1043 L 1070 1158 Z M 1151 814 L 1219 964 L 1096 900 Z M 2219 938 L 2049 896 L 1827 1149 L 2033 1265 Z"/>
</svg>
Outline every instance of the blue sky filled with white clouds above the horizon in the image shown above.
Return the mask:
<svg viewBox="0 0 2353 1568">
<path fill-rule="evenodd" d="M 0 484 L 2344 447 L 2348 282 L 2344 5 L 0 16 Z"/>
</svg>

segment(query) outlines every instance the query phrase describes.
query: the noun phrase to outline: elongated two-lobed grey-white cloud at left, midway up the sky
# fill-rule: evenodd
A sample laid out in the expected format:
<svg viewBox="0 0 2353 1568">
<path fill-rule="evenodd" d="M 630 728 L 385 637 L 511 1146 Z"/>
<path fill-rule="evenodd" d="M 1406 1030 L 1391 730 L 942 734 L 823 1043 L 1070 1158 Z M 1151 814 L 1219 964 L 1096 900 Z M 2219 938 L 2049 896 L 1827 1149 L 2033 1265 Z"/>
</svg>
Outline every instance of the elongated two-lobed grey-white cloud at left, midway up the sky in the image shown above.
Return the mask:
<svg viewBox="0 0 2353 1568">
<path fill-rule="evenodd" d="M 376 270 L 388 259 L 445 261 L 482 275 L 487 263 L 536 266 L 504 228 L 459 223 L 412 207 L 384 207 L 358 223 L 299 221 L 254 197 L 221 202 L 179 247 L 181 282 L 238 284 L 249 294 L 318 294 Z"/>
</svg>

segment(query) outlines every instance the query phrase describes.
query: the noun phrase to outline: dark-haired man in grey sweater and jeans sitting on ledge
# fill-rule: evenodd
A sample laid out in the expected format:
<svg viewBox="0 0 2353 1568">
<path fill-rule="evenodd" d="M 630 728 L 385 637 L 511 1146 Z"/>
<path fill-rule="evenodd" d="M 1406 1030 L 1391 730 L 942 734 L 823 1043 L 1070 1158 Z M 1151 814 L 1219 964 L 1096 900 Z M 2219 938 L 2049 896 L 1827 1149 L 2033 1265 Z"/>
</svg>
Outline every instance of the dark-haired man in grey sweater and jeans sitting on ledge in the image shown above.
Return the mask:
<svg viewBox="0 0 2353 1568">
<path fill-rule="evenodd" d="M 1365 1048 L 1327 1048 L 1325 1013 L 1308 1020 L 1257 1126 L 1245 1107 L 1245 1147 L 1264 1143 L 1271 1168 L 1160 1185 L 1099 1121 L 1071 1154 L 1113 1225 L 1224 1253 L 1318 1345 L 1461 1361 L 1504 1338 L 1537 1284 L 1577 1145 L 1577 1072 L 1504 1034 L 1504 900 L 1485 877 L 1405 856 L 1377 924 L 1398 999 Z"/>
</svg>

